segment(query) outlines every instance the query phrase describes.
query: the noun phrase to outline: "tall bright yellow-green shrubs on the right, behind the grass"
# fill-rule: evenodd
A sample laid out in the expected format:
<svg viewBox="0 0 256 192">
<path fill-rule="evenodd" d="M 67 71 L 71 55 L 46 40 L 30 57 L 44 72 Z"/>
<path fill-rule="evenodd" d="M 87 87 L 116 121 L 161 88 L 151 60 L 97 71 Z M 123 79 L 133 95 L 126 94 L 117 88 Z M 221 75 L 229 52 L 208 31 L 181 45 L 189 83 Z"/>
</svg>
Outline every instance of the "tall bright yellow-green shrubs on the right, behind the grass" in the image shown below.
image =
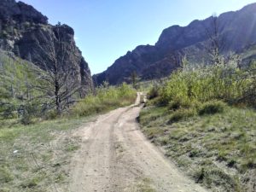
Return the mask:
<svg viewBox="0 0 256 192">
<path fill-rule="evenodd" d="M 182 107 L 194 101 L 246 102 L 247 96 L 256 95 L 255 77 L 253 66 L 240 69 L 233 61 L 218 66 L 179 69 L 172 73 L 160 97 L 166 104 L 174 102 Z"/>
</svg>

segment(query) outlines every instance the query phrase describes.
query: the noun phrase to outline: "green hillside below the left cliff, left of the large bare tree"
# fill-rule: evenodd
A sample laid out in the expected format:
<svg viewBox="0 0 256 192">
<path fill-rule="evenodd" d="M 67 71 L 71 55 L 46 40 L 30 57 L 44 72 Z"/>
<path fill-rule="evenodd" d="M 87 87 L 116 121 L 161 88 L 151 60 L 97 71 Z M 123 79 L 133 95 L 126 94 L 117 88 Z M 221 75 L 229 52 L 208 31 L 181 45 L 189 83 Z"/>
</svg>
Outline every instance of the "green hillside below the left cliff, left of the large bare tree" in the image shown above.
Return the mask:
<svg viewBox="0 0 256 192">
<path fill-rule="evenodd" d="M 40 100 L 35 98 L 39 92 L 32 89 L 38 79 L 33 68 L 28 61 L 0 52 L 0 118 L 19 118 L 23 124 L 29 124 L 38 115 Z"/>
</svg>

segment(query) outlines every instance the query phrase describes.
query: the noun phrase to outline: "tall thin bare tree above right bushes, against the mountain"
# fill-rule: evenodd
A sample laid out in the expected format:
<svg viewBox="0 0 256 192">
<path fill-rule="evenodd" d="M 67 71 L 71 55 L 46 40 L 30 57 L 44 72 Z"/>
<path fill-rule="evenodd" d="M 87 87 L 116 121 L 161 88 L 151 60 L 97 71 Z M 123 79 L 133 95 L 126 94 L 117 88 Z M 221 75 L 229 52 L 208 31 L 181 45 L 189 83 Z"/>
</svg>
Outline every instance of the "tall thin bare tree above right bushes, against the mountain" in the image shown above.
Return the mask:
<svg viewBox="0 0 256 192">
<path fill-rule="evenodd" d="M 212 64 L 218 65 L 221 63 L 221 53 L 224 51 L 226 44 L 224 34 L 221 34 L 217 15 L 212 15 L 211 23 L 205 29 L 208 38 L 205 49 L 211 58 Z"/>
</svg>

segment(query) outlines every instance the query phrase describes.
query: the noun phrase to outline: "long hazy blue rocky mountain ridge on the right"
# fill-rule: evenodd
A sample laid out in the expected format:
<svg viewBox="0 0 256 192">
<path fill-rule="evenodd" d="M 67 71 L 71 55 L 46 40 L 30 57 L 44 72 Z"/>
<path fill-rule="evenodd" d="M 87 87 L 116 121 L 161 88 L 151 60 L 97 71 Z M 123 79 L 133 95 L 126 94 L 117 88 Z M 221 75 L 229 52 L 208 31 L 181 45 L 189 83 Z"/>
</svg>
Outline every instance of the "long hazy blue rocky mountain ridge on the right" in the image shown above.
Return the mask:
<svg viewBox="0 0 256 192">
<path fill-rule="evenodd" d="M 165 77 L 179 66 L 184 55 L 192 63 L 207 62 L 207 46 L 214 32 L 214 20 L 218 23 L 218 36 L 224 41 L 223 55 L 241 53 L 246 47 L 256 44 L 256 3 L 253 3 L 218 17 L 194 20 L 188 26 L 166 28 L 154 46 L 138 46 L 103 73 L 94 75 L 93 79 L 96 84 L 103 81 L 120 84 L 134 71 L 142 79 Z"/>
</svg>

